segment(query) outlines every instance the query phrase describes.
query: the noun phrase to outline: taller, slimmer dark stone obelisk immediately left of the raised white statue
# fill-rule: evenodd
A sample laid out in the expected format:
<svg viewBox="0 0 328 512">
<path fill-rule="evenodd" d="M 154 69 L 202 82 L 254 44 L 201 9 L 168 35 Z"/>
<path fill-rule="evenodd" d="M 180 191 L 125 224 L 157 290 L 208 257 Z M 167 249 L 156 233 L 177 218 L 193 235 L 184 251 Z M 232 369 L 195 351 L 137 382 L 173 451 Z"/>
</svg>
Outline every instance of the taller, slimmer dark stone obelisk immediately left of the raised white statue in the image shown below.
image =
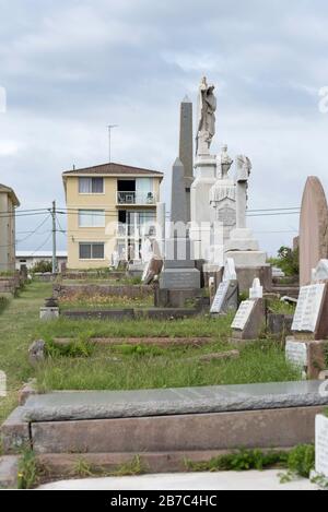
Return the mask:
<svg viewBox="0 0 328 512">
<path fill-rule="evenodd" d="M 190 189 L 194 182 L 192 103 L 186 96 L 180 104 L 179 159 L 185 168 L 187 219 L 190 222 Z"/>
</svg>

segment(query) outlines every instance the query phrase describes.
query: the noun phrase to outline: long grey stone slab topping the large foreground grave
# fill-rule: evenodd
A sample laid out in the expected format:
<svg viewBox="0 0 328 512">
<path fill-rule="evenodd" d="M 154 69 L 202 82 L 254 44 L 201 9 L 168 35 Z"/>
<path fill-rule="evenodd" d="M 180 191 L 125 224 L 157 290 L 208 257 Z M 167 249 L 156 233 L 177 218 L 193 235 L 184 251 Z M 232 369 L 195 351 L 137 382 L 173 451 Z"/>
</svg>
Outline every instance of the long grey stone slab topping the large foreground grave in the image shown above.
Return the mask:
<svg viewBox="0 0 328 512">
<path fill-rule="evenodd" d="M 328 405 L 321 381 L 140 391 L 63 391 L 30 396 L 25 421 L 131 418 Z"/>
</svg>

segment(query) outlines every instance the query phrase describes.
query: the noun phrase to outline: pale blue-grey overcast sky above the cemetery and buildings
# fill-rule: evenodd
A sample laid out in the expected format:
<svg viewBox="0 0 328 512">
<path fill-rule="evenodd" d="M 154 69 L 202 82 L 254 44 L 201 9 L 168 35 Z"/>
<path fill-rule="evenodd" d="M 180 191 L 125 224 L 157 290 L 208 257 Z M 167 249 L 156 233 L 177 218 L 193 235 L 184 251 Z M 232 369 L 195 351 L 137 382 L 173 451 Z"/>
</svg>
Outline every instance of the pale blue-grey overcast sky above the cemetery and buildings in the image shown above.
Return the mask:
<svg viewBox="0 0 328 512">
<path fill-rule="evenodd" d="M 63 206 L 61 172 L 108 160 L 109 123 L 113 160 L 169 174 L 179 102 L 196 102 L 204 74 L 218 96 L 212 152 L 249 156 L 250 209 L 298 206 L 308 175 L 328 188 L 325 0 L 0 0 L 0 182 L 22 209 Z M 19 240 L 42 221 L 20 217 Z M 298 217 L 249 223 L 273 253 Z M 36 250 L 49 226 L 19 249 Z"/>
</svg>

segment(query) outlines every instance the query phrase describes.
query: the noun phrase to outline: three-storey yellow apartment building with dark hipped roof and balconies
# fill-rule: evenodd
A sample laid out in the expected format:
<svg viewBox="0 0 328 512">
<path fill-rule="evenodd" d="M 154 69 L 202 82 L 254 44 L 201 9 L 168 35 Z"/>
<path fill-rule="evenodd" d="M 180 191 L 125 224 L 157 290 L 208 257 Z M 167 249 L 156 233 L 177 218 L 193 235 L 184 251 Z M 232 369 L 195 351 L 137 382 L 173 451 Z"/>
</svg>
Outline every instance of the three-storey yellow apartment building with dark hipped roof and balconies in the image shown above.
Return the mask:
<svg viewBox="0 0 328 512">
<path fill-rule="evenodd" d="M 62 174 L 68 214 L 68 267 L 109 266 L 114 254 L 134 260 L 156 223 L 163 174 L 105 164 Z"/>
</svg>

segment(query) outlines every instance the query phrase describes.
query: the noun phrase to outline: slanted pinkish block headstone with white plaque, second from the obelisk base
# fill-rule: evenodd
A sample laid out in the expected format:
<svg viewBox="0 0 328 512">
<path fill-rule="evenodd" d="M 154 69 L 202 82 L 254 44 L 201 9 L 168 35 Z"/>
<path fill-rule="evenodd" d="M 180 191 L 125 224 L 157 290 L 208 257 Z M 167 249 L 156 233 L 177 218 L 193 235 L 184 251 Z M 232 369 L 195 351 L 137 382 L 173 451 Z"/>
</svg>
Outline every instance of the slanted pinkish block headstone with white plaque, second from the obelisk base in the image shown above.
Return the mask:
<svg viewBox="0 0 328 512">
<path fill-rule="evenodd" d="M 232 323 L 233 340 L 258 340 L 263 326 L 263 300 L 244 300 Z"/>
</svg>

